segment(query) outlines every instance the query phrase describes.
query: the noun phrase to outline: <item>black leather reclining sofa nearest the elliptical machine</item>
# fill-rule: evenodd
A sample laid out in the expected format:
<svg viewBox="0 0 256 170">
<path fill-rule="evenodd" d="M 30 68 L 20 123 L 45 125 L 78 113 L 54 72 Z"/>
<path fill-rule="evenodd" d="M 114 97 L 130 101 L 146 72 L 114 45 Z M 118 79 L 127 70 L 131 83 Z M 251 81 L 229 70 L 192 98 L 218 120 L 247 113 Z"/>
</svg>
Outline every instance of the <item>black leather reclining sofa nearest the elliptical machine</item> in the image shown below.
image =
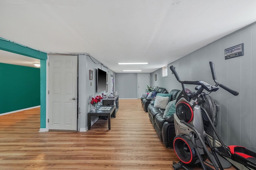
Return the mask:
<svg viewBox="0 0 256 170">
<path fill-rule="evenodd" d="M 170 91 L 170 101 L 178 98 L 180 90 L 173 89 Z M 174 101 L 175 102 L 175 101 Z M 166 148 L 173 147 L 173 139 L 175 135 L 173 115 L 164 118 L 165 109 L 154 107 L 154 99 L 148 104 L 148 117 L 156 130 L 158 137 L 162 140 Z"/>
</svg>

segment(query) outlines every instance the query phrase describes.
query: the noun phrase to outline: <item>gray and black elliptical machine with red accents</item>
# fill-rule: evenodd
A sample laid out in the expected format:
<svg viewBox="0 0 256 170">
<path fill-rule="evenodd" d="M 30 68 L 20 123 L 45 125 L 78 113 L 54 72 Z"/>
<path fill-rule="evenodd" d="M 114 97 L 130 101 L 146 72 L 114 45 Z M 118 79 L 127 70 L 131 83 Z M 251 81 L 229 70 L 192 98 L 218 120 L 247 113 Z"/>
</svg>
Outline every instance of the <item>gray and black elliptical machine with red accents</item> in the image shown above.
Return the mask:
<svg viewBox="0 0 256 170">
<path fill-rule="evenodd" d="M 242 146 L 226 146 L 214 126 L 217 108 L 212 98 L 208 95 L 217 91 L 219 89 L 218 86 L 235 96 L 239 93 L 218 83 L 214 63 L 211 61 L 210 68 L 212 78 L 216 83 L 214 86 L 204 81 L 181 81 L 174 67 L 170 66 L 176 79 L 182 85 L 182 92 L 177 98 L 176 113 L 174 114 L 176 136 L 173 142 L 174 151 L 180 162 L 174 164 L 173 168 L 175 170 L 179 168 L 190 170 L 190 166 L 201 164 L 204 170 L 212 170 L 213 168 L 205 164 L 205 160 L 208 159 L 215 170 L 219 168 L 223 170 L 219 159 L 222 156 L 240 170 L 256 169 L 256 153 Z M 196 85 L 195 89 L 197 91 L 192 92 L 189 89 L 185 89 L 184 84 Z M 207 92 L 203 92 L 204 90 Z M 213 144 L 211 144 L 206 135 L 206 128 L 209 125 L 213 131 Z M 216 136 L 221 146 L 216 147 Z M 210 149 L 208 150 L 208 148 Z"/>
</svg>

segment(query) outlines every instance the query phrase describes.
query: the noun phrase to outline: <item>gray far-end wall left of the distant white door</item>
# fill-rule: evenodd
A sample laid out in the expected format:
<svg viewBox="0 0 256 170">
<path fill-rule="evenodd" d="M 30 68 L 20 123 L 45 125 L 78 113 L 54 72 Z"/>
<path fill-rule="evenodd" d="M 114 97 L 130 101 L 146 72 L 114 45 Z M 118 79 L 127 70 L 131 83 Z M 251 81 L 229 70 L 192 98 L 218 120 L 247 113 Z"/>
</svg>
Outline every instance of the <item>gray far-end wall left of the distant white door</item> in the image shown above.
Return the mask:
<svg viewBox="0 0 256 170">
<path fill-rule="evenodd" d="M 119 99 L 137 99 L 137 73 L 116 73 Z"/>
</svg>

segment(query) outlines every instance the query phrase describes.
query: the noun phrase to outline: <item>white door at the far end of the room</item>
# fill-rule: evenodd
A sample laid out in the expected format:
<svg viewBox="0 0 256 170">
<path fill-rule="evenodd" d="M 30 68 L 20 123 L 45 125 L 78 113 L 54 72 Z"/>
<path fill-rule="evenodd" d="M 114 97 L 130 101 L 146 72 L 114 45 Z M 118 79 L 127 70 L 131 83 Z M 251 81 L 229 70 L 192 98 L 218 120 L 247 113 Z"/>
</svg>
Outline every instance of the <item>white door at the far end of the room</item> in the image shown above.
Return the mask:
<svg viewBox="0 0 256 170">
<path fill-rule="evenodd" d="M 144 94 L 146 92 L 147 89 L 147 85 L 149 85 L 150 80 L 149 80 L 149 74 L 145 73 L 145 74 L 140 74 L 138 73 L 137 77 L 138 77 L 138 99 L 140 99 L 140 97 L 142 97 L 142 94 Z"/>
</svg>

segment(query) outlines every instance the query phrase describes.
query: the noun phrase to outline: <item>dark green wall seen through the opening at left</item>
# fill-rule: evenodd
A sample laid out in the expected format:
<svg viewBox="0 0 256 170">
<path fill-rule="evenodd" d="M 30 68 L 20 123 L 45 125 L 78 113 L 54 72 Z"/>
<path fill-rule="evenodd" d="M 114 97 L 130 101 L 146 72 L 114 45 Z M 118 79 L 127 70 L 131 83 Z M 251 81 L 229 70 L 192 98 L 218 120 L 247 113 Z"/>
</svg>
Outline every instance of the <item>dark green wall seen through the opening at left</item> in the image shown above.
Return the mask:
<svg viewBox="0 0 256 170">
<path fill-rule="evenodd" d="M 0 63 L 0 114 L 40 105 L 40 69 Z"/>
</svg>

